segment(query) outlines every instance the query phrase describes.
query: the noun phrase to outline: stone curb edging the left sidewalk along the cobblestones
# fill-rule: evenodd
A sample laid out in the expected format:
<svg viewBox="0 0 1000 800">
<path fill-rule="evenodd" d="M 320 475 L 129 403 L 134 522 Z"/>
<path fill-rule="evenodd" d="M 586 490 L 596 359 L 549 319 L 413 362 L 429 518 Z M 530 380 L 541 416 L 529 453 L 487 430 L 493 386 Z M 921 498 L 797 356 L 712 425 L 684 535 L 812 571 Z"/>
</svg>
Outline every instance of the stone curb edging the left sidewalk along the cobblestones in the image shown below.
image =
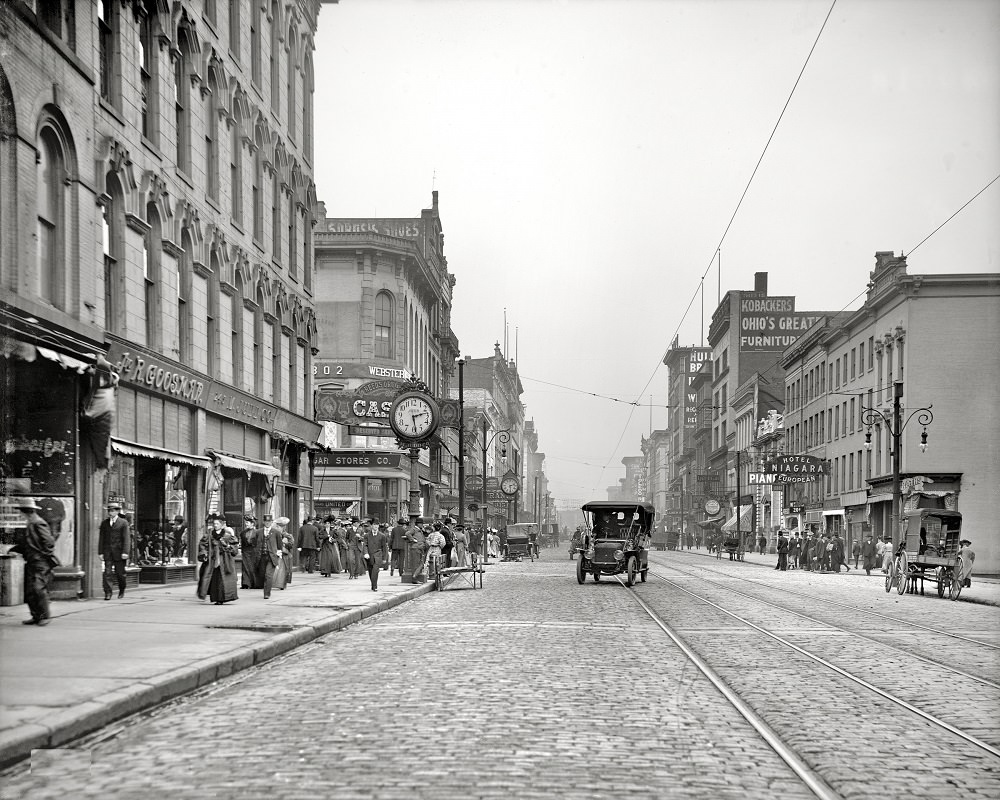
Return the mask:
<svg viewBox="0 0 1000 800">
<path fill-rule="evenodd" d="M 0 732 L 0 769 L 6 769 L 27 758 L 32 750 L 61 747 L 105 725 L 147 711 L 250 667 L 259 666 L 328 633 L 342 630 L 409 600 L 415 600 L 433 589 L 433 583 L 424 583 L 392 597 L 381 598 L 360 608 L 317 620 L 311 625 L 275 634 L 253 645 L 239 647 L 172 669 L 150 680 L 116 689 L 73 708 L 56 710 L 45 717 L 42 723 L 31 723 Z"/>
</svg>

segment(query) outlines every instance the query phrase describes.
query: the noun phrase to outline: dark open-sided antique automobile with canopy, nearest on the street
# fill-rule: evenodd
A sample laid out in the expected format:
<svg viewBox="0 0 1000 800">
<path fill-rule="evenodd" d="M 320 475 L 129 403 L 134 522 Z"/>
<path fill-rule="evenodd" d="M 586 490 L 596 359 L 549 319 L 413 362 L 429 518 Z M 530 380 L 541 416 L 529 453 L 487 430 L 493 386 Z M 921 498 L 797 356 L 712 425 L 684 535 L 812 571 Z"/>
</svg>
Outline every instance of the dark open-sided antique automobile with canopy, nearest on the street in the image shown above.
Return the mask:
<svg viewBox="0 0 1000 800">
<path fill-rule="evenodd" d="M 580 548 L 576 579 L 587 575 L 600 581 L 602 575 L 626 576 L 629 586 L 639 575 L 645 582 L 649 572 L 649 541 L 656 511 L 650 503 L 594 500 L 583 506 L 589 530 Z"/>
</svg>

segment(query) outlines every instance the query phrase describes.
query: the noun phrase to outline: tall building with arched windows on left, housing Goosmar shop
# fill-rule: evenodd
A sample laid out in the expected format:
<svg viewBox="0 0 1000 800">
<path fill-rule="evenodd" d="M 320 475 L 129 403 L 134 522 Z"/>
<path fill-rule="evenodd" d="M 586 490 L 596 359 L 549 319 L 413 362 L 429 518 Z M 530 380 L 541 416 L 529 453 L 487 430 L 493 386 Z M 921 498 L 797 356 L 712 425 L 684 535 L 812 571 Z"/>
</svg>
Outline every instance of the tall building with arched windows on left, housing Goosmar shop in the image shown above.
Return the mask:
<svg viewBox="0 0 1000 800">
<path fill-rule="evenodd" d="M 99 587 L 111 498 L 149 580 L 193 575 L 211 508 L 311 508 L 318 10 L 0 5 L 5 493 L 61 526 L 57 594 Z"/>
</svg>

